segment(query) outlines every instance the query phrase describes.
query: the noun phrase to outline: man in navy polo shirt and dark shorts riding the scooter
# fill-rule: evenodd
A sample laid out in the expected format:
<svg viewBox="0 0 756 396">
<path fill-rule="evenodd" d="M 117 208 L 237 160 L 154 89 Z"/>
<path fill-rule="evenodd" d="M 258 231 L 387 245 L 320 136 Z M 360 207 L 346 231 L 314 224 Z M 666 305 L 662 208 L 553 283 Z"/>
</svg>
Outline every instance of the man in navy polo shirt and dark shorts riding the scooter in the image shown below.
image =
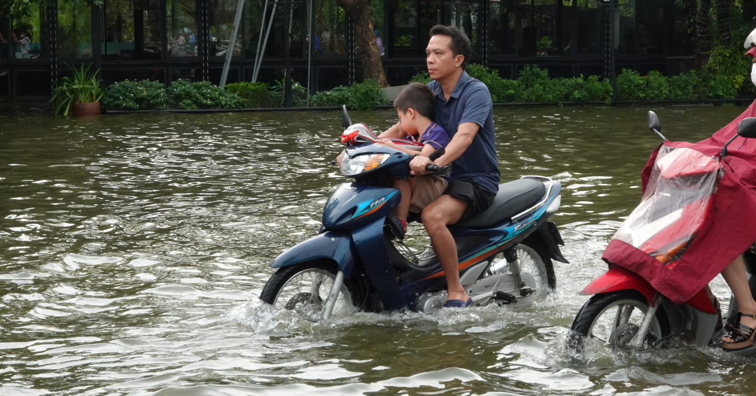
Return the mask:
<svg viewBox="0 0 756 396">
<path fill-rule="evenodd" d="M 428 86 L 435 92 L 435 122 L 446 130 L 451 142 L 445 155 L 435 161 L 417 156 L 410 167 L 414 175 L 425 174 L 430 164 L 454 168 L 454 180 L 444 195 L 426 206 L 421 216 L 445 272 L 448 297 L 444 306 L 463 308 L 472 300 L 460 283 L 457 248 L 447 226 L 486 210 L 496 197 L 500 172 L 493 104 L 488 87 L 465 72 L 469 38 L 454 26 L 442 25 L 433 26 L 430 35 L 426 63 L 433 79 Z M 400 122 L 379 137 L 406 136 Z"/>
</svg>

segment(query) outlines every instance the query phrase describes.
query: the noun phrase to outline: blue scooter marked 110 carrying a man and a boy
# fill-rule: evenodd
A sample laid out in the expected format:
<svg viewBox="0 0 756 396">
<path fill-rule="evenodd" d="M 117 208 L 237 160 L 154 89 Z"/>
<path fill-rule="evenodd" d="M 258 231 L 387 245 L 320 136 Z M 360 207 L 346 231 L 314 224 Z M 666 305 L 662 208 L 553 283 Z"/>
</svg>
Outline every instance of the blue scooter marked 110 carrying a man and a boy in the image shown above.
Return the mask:
<svg viewBox="0 0 756 396">
<path fill-rule="evenodd" d="M 366 129 L 352 125 L 345 108 L 342 126 L 347 132 Z M 445 273 L 432 247 L 410 250 L 402 243 L 401 223 L 392 216 L 401 192 L 387 182 L 411 177 L 412 156 L 364 141 L 358 138 L 341 155 L 342 173 L 355 180 L 330 196 L 318 235 L 274 259 L 271 267 L 277 272 L 265 284 L 262 301 L 310 321 L 358 310 L 427 313 L 442 307 Z M 428 170 L 445 171 L 433 164 Z M 556 225 L 548 221 L 559 209 L 560 190 L 558 182 L 540 176 L 500 184 L 491 207 L 449 226 L 460 281 L 473 305 L 525 307 L 556 287 L 551 260 L 568 262 L 559 251 L 564 243 Z"/>
</svg>

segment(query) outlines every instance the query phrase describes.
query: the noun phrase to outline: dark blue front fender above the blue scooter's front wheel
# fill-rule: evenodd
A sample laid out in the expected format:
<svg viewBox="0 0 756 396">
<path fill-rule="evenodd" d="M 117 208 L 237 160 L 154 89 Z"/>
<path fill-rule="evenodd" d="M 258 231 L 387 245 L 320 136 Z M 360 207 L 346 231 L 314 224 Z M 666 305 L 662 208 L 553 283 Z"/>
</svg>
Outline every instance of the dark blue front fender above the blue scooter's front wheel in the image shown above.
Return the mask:
<svg viewBox="0 0 756 396">
<path fill-rule="evenodd" d="M 349 232 L 328 231 L 299 242 L 281 253 L 271 263 L 271 268 L 293 266 L 314 259 L 333 259 L 349 278 L 358 258 L 352 235 Z"/>
</svg>

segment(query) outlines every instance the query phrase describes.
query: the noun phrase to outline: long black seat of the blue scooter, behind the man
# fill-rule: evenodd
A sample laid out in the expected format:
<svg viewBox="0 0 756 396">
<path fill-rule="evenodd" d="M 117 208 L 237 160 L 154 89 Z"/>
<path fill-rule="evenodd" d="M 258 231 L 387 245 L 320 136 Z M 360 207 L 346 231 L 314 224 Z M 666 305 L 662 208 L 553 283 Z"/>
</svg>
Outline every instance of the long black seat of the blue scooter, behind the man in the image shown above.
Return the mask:
<svg viewBox="0 0 756 396">
<path fill-rule="evenodd" d="M 546 186 L 534 179 L 525 178 L 500 184 L 494 203 L 488 209 L 454 226 L 472 229 L 495 226 L 537 204 L 544 198 L 544 194 L 546 194 Z"/>
</svg>

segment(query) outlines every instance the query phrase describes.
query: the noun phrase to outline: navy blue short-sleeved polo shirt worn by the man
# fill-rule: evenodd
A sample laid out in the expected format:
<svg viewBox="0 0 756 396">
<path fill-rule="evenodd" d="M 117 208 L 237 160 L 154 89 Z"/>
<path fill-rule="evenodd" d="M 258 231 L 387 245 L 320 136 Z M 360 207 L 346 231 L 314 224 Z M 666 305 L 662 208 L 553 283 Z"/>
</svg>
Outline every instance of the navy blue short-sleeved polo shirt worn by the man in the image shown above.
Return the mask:
<svg viewBox="0 0 756 396">
<path fill-rule="evenodd" d="M 496 156 L 494 105 L 488 87 L 467 72 L 460 75 L 449 100 L 438 81 L 431 81 L 428 86 L 435 92 L 435 122 L 446 130 L 449 139 L 454 138 L 457 127 L 465 122 L 475 122 L 480 127 L 465 152 L 451 163 L 454 179 L 468 177 L 491 192 L 498 192 L 501 174 Z"/>
</svg>

